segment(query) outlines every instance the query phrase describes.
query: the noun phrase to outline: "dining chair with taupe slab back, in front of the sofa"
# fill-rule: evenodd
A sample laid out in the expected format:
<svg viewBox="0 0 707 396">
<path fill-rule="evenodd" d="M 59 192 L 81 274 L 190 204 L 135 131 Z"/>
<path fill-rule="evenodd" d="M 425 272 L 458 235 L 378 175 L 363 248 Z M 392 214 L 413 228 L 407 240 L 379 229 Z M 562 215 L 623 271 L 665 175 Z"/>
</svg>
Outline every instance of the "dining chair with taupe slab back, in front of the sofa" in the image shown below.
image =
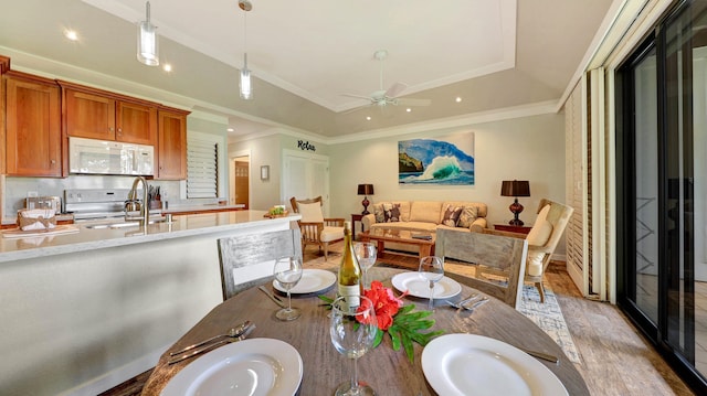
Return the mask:
<svg viewBox="0 0 707 396">
<path fill-rule="evenodd" d="M 483 264 L 503 271 L 503 278 L 475 277 L 445 270 L 450 278 L 495 297 L 513 308 L 520 299 L 526 270 L 528 243 L 525 239 L 482 233 L 462 233 L 439 228 L 435 255 L 454 259 L 455 264 Z"/>
</svg>

